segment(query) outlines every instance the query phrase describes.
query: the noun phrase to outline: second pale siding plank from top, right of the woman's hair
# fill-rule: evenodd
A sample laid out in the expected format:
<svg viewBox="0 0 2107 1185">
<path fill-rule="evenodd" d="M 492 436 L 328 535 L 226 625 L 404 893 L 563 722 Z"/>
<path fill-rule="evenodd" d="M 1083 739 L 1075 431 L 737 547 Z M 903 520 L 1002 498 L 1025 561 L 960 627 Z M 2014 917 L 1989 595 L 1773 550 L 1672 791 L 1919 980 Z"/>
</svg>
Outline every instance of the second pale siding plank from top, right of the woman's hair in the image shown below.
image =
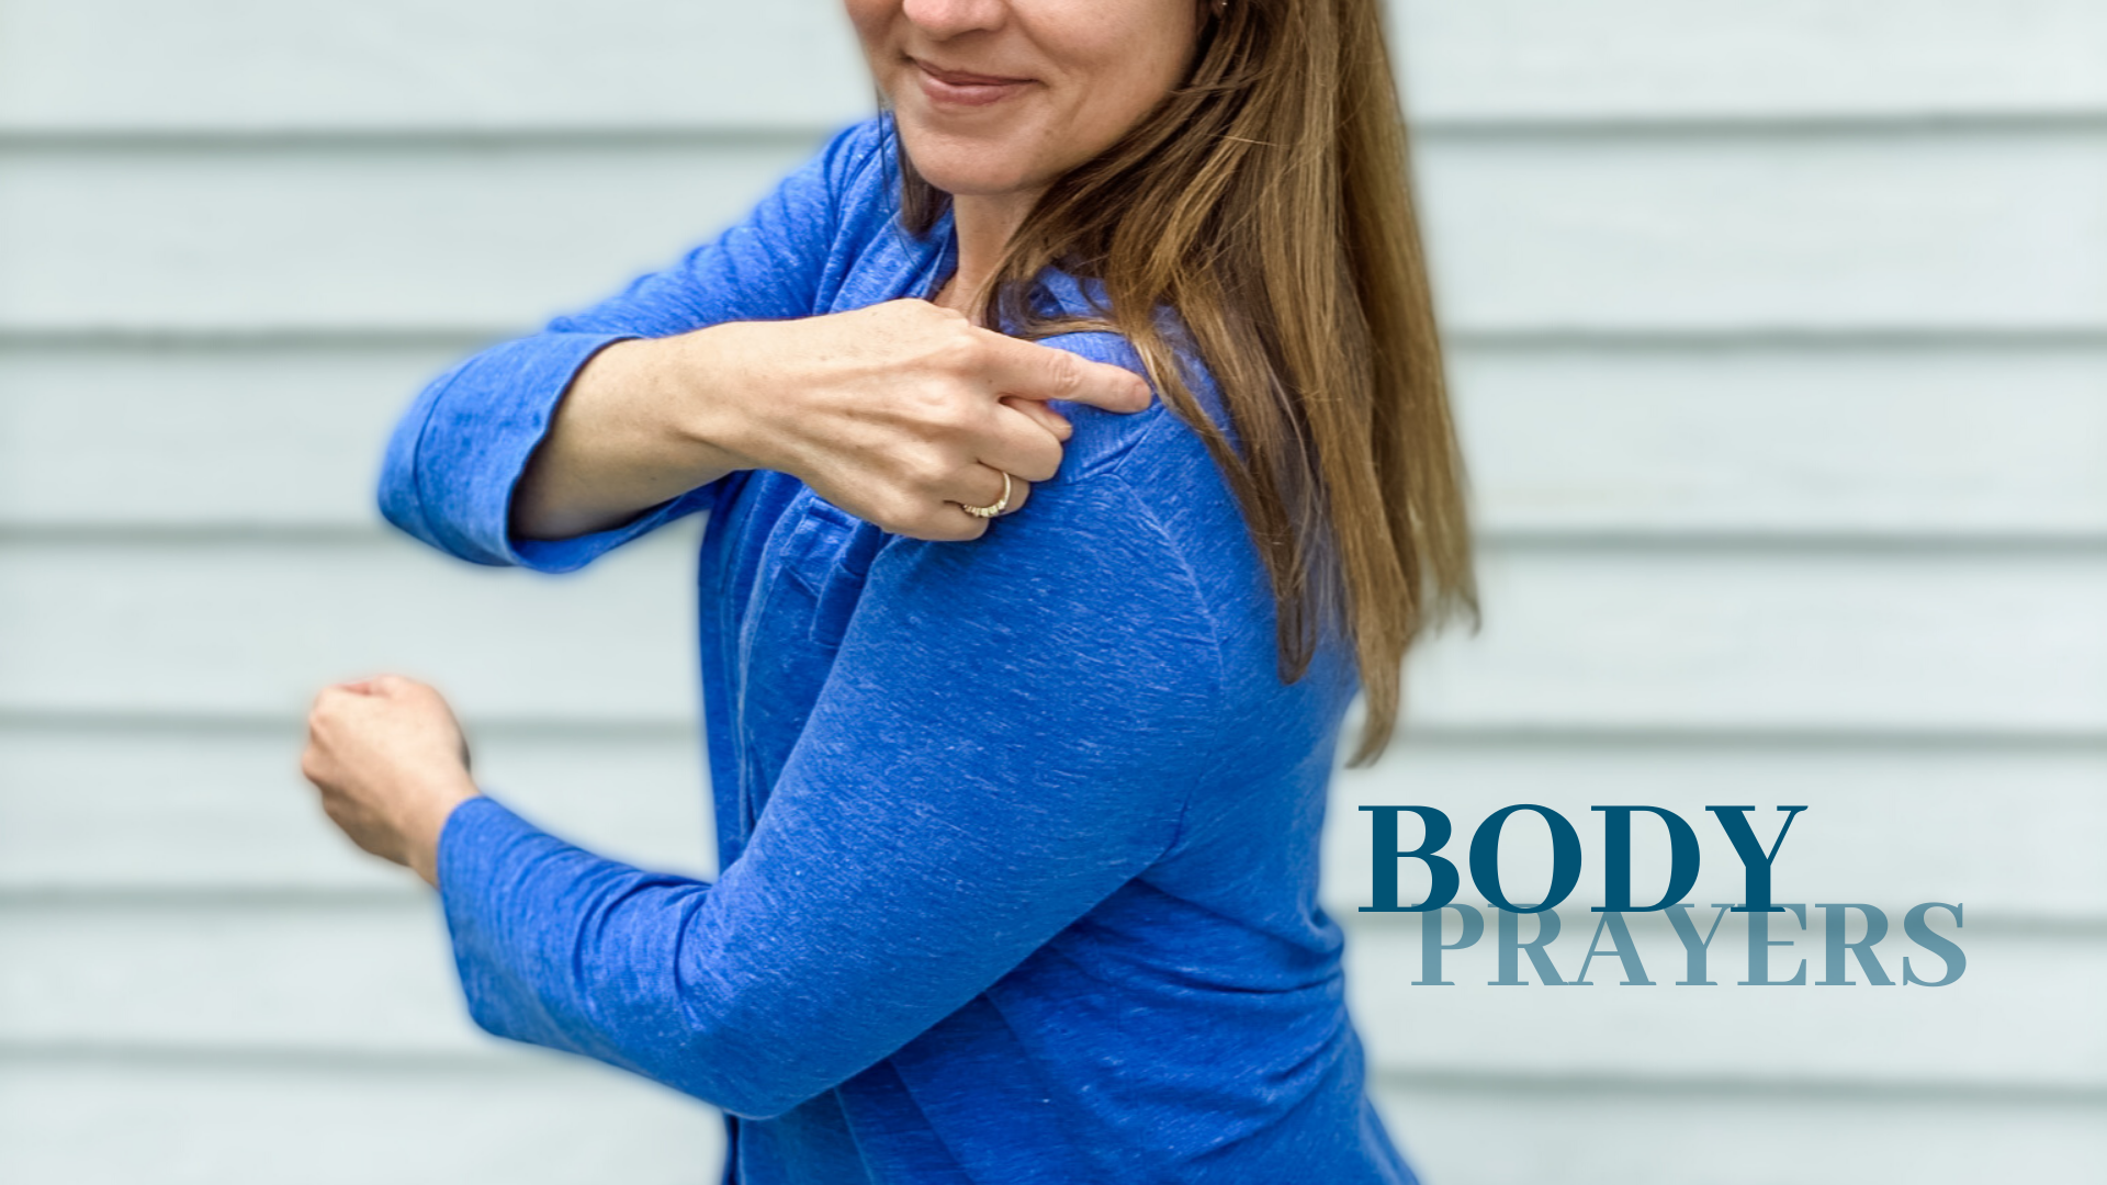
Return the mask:
<svg viewBox="0 0 2107 1185">
<path fill-rule="evenodd" d="M 2084 148 L 2082 148 L 2084 145 Z M 2107 135 L 1492 137 L 1420 154 L 1462 331 L 2107 325 Z"/>
</svg>

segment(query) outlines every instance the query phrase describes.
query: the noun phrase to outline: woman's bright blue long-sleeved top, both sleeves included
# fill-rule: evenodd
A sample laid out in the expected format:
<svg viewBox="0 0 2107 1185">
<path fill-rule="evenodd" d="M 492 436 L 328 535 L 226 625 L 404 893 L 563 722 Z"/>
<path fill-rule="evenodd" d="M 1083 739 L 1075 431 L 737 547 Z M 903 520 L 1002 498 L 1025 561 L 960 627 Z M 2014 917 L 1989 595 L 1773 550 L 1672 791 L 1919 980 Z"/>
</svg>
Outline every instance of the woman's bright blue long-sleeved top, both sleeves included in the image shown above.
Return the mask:
<svg viewBox="0 0 2107 1185">
<path fill-rule="evenodd" d="M 1410 1181 L 1317 905 L 1353 664 L 1327 637 L 1281 683 L 1235 498 L 1161 401 L 1058 403 L 1060 477 L 971 542 L 765 470 L 619 529 L 508 533 L 607 344 L 933 293 L 948 221 L 900 230 L 889 164 L 889 124 L 845 131 L 670 270 L 440 375 L 390 443 L 388 519 L 476 563 L 575 569 L 708 512 L 723 871 L 641 871 L 464 803 L 438 883 L 474 1021 L 723 1107 L 744 1185 Z M 1091 291 L 1049 274 L 1037 299 Z M 1115 335 L 1047 344 L 1138 369 Z"/>
</svg>

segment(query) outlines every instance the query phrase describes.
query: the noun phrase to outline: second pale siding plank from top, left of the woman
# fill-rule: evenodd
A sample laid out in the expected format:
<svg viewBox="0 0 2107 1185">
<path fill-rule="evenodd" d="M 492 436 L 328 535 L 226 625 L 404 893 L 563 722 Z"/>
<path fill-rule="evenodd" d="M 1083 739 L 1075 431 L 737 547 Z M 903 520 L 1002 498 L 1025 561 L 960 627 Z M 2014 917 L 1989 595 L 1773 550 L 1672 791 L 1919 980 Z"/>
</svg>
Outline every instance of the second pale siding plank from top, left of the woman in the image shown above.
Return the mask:
<svg viewBox="0 0 2107 1185">
<path fill-rule="evenodd" d="M 0 329 L 525 329 L 672 266 L 815 148 L 0 150 Z"/>
</svg>

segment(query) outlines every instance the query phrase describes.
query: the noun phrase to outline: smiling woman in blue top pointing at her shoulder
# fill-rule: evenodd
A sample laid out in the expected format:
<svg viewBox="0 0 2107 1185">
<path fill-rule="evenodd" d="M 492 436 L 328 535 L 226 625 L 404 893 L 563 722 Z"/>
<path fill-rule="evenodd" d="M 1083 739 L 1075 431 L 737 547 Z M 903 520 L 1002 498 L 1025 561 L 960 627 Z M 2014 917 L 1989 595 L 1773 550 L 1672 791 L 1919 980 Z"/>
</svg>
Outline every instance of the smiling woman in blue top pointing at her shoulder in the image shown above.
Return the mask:
<svg viewBox="0 0 2107 1185">
<path fill-rule="evenodd" d="M 1370 759 L 1471 599 L 1376 4 L 847 8 L 889 116 L 442 375 L 381 491 L 546 571 L 710 512 L 718 881 L 480 797 L 402 679 L 308 776 L 485 1029 L 721 1105 L 742 1183 L 1410 1181 L 1317 907 L 1346 702 Z"/>
</svg>

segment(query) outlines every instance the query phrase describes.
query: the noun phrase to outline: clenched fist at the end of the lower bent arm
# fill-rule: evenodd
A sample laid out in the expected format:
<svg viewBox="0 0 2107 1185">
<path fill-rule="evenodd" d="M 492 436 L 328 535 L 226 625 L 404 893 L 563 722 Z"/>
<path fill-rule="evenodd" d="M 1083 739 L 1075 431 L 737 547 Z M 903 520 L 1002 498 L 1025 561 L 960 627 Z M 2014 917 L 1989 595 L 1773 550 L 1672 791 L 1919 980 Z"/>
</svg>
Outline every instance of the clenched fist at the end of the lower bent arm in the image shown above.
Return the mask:
<svg viewBox="0 0 2107 1185">
<path fill-rule="evenodd" d="M 352 843 L 438 886 L 438 833 L 478 795 L 468 742 L 432 687 L 379 675 L 324 687 L 308 713 L 299 772 Z"/>
</svg>

